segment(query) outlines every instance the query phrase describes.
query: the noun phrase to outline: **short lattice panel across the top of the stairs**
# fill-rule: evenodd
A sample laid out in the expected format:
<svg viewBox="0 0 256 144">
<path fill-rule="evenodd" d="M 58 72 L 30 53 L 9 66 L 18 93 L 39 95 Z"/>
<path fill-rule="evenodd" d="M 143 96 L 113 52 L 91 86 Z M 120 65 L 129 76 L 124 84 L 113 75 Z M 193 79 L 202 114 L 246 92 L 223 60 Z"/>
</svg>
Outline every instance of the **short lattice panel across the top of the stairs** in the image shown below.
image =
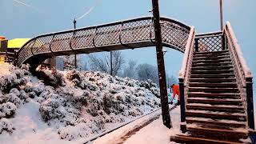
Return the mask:
<svg viewBox="0 0 256 144">
<path fill-rule="evenodd" d="M 194 49 L 196 52 L 220 51 L 224 45 L 222 31 L 197 34 L 194 43 Z"/>
</svg>

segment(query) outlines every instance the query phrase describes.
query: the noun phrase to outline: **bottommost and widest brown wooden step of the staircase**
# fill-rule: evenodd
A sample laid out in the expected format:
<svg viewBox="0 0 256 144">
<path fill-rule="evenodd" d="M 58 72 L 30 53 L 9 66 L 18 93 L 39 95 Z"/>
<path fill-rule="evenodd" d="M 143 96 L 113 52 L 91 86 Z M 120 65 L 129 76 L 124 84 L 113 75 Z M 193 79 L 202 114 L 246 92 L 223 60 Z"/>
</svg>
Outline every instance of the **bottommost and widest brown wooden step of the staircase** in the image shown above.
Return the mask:
<svg viewBox="0 0 256 144">
<path fill-rule="evenodd" d="M 193 135 L 182 135 L 178 134 L 176 136 L 170 137 L 171 142 L 178 142 L 178 143 L 186 143 L 186 144 L 241 144 L 243 142 L 231 142 L 231 141 L 220 141 L 217 139 L 210 139 L 210 138 L 202 138 Z"/>
</svg>

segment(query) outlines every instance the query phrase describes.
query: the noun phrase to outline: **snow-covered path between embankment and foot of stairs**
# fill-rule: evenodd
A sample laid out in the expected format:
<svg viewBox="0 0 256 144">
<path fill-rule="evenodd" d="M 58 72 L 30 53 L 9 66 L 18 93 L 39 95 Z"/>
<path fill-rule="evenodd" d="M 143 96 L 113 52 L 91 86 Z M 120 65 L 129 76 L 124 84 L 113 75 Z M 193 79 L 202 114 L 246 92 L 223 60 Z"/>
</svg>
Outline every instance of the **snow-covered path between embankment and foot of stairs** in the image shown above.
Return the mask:
<svg viewBox="0 0 256 144">
<path fill-rule="evenodd" d="M 96 139 L 93 143 L 170 143 L 170 135 L 179 133 L 179 106 L 170 111 L 173 123 L 173 128 L 170 130 L 162 125 L 162 116 L 160 114 L 161 110 L 158 110 L 157 113 L 131 122 L 127 126 L 123 126 L 102 138 Z"/>
</svg>

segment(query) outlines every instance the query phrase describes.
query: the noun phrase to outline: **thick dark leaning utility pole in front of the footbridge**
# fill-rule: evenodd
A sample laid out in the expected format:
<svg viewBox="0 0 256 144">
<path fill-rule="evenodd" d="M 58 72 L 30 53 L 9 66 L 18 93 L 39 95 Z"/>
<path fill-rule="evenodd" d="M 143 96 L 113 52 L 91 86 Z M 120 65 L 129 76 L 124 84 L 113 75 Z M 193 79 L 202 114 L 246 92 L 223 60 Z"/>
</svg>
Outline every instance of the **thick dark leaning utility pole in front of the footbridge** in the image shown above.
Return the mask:
<svg viewBox="0 0 256 144">
<path fill-rule="evenodd" d="M 153 17 L 154 17 L 153 19 L 154 19 L 155 46 L 156 46 L 157 59 L 158 59 L 158 78 L 159 78 L 159 84 L 160 84 L 162 122 L 166 127 L 171 128 L 172 126 L 170 122 L 168 97 L 167 97 L 167 89 L 166 89 L 166 70 L 165 70 L 165 63 L 164 63 L 163 51 L 162 51 L 162 34 L 161 34 L 161 26 L 160 26 L 158 0 L 152 0 L 152 6 L 153 6 Z"/>
</svg>

